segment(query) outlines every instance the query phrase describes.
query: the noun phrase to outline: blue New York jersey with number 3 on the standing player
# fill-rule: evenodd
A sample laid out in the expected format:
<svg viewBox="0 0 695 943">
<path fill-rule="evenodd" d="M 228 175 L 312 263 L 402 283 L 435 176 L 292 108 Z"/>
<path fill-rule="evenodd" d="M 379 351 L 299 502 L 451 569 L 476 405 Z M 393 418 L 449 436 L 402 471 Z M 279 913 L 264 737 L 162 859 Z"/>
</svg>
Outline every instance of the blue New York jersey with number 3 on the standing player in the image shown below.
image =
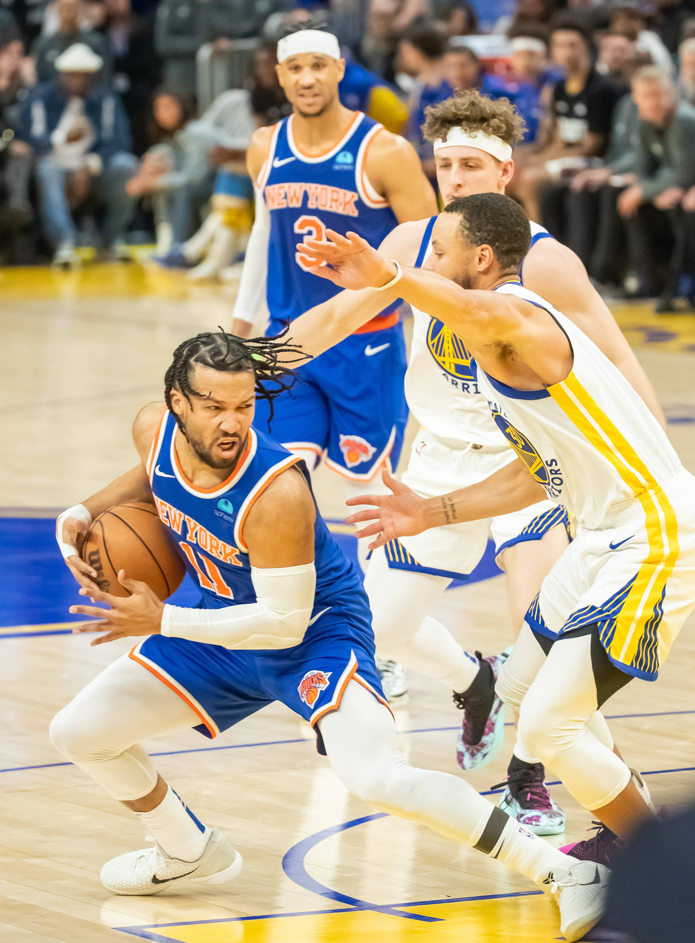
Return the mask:
<svg viewBox="0 0 695 943">
<path fill-rule="evenodd" d="M 361 111 L 342 139 L 323 157 L 306 157 L 292 139 L 293 115 L 275 125 L 258 186 L 270 210 L 268 309 L 273 321 L 292 321 L 340 291 L 310 272 L 296 249 L 306 239 L 325 240 L 325 230 L 356 232 L 377 247 L 398 225 L 388 202 L 373 190 L 364 162 L 382 129 Z M 387 317 L 398 303 L 379 315 Z"/>
</svg>

